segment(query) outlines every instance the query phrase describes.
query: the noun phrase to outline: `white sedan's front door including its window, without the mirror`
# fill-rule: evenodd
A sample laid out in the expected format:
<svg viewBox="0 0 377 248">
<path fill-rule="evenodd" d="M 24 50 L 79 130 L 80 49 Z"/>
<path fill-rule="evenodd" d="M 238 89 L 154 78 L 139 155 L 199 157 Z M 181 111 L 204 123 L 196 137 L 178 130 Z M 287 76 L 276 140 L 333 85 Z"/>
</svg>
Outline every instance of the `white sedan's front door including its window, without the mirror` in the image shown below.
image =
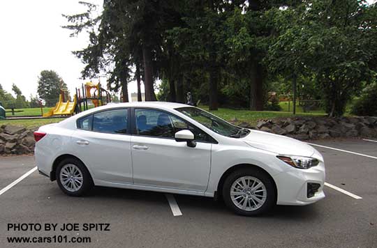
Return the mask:
<svg viewBox="0 0 377 248">
<path fill-rule="evenodd" d="M 134 116 L 131 153 L 135 185 L 205 192 L 212 148 L 205 141 L 206 134 L 165 111 L 135 109 Z M 182 129 L 195 129 L 195 148 L 175 141 L 175 132 Z"/>
</svg>

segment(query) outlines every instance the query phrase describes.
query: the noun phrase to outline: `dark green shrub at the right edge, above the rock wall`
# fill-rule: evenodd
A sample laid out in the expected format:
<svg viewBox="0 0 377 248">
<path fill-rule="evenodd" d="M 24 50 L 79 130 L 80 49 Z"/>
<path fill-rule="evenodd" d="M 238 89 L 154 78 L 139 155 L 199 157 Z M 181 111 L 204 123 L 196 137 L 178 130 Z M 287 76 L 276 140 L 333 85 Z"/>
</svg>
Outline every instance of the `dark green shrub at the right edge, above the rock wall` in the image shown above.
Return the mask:
<svg viewBox="0 0 377 248">
<path fill-rule="evenodd" d="M 362 95 L 353 105 L 351 114 L 377 116 L 377 82 L 364 88 Z"/>
</svg>

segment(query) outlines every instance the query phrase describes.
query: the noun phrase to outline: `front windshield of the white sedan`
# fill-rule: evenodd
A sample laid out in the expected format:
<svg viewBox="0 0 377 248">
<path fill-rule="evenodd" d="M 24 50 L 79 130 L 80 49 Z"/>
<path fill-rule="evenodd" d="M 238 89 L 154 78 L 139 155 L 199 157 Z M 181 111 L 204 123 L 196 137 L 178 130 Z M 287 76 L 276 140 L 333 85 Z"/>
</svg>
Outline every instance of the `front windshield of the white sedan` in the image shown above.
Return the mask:
<svg viewBox="0 0 377 248">
<path fill-rule="evenodd" d="M 226 137 L 241 138 L 245 137 L 250 132 L 250 130 L 247 130 L 246 128 L 232 125 L 213 114 L 203 111 L 202 109 L 195 107 L 182 107 L 175 110 L 193 118 L 195 121 L 198 121 L 198 123 L 204 125 L 210 130 Z"/>
</svg>

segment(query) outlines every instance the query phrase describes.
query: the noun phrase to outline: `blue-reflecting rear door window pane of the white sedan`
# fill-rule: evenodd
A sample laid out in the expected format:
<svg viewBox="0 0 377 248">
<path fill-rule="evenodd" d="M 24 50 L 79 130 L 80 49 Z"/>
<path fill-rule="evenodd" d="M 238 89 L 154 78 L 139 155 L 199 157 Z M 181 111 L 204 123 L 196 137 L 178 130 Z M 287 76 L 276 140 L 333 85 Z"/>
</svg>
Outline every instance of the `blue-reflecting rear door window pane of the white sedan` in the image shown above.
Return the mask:
<svg viewBox="0 0 377 248">
<path fill-rule="evenodd" d="M 112 109 L 93 115 L 93 131 L 110 134 L 127 133 L 128 109 Z"/>
</svg>

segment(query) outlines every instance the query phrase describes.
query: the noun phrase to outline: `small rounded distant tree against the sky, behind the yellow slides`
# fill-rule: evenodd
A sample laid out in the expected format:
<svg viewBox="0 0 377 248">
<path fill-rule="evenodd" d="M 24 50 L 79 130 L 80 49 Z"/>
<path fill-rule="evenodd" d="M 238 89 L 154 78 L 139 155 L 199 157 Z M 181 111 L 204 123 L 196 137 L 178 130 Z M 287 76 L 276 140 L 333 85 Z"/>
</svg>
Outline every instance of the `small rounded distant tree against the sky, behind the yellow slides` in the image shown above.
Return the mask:
<svg viewBox="0 0 377 248">
<path fill-rule="evenodd" d="M 67 89 L 66 83 L 53 70 L 43 70 L 38 77 L 38 95 L 45 100 L 47 107 L 53 107 L 59 100 L 61 89 Z"/>
</svg>

